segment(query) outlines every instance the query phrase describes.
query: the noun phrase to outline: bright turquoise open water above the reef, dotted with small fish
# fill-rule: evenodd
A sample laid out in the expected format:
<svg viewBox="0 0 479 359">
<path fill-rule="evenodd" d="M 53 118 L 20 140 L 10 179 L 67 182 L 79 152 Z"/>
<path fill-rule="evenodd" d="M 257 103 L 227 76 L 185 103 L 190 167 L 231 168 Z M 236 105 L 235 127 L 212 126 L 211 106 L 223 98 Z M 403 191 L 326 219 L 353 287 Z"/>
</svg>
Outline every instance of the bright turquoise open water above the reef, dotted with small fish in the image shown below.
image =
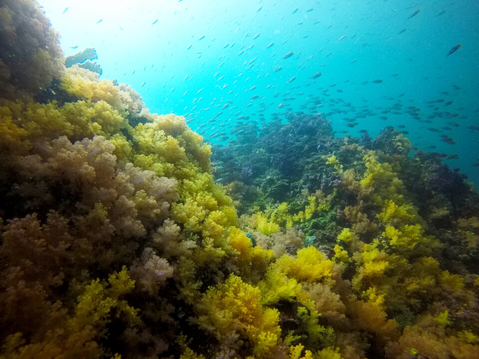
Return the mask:
<svg viewBox="0 0 479 359">
<path fill-rule="evenodd" d="M 40 3 L 65 55 L 94 47 L 102 78 L 214 143 L 240 120 L 320 112 L 338 136 L 394 126 L 457 154 L 445 163 L 479 183 L 477 0 Z"/>
</svg>

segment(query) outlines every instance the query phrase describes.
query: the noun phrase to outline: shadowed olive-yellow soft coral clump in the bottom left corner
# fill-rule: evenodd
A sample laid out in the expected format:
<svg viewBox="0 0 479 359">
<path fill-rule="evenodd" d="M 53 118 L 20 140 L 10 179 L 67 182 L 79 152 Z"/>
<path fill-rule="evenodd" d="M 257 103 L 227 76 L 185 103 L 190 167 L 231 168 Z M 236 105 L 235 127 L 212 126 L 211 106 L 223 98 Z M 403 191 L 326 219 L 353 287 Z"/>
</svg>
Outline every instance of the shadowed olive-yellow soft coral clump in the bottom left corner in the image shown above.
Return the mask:
<svg viewBox="0 0 479 359">
<path fill-rule="evenodd" d="M 72 317 L 62 318 L 58 313 L 56 327 L 40 342 L 25 345 L 21 333 L 8 336 L 0 358 L 101 357 L 105 353 L 95 340 L 107 334 L 106 325 L 113 314 L 126 323 L 139 323 L 138 310 L 124 299 L 134 285 L 126 267 L 120 272 L 112 273 L 108 284 L 99 279 L 92 281 L 78 297 Z M 59 308 L 59 303 L 55 306 Z"/>
</svg>

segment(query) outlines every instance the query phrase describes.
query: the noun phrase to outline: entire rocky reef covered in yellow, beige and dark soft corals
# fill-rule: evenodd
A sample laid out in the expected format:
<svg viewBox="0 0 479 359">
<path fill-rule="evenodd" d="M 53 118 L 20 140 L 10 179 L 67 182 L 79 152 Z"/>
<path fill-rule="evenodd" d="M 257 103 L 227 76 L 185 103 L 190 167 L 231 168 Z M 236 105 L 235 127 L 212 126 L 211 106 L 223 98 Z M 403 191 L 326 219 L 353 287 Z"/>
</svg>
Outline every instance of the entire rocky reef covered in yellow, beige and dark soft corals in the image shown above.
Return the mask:
<svg viewBox="0 0 479 359">
<path fill-rule="evenodd" d="M 0 17 L 0 358 L 479 358 L 479 197 L 440 154 L 305 113 L 212 148 L 66 68 L 36 2 Z"/>
</svg>

